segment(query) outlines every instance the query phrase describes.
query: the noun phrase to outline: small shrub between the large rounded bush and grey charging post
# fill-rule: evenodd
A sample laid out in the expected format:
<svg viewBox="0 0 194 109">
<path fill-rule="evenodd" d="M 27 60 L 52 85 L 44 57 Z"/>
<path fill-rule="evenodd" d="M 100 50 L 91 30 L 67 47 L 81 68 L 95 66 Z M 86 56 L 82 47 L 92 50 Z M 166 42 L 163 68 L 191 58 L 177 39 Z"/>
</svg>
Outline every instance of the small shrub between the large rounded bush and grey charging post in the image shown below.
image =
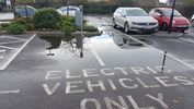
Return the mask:
<svg viewBox="0 0 194 109">
<path fill-rule="evenodd" d="M 68 21 L 62 22 L 61 32 L 65 34 L 65 36 L 71 36 L 71 33 L 75 31 L 76 31 L 76 26 L 72 23 Z"/>
</svg>

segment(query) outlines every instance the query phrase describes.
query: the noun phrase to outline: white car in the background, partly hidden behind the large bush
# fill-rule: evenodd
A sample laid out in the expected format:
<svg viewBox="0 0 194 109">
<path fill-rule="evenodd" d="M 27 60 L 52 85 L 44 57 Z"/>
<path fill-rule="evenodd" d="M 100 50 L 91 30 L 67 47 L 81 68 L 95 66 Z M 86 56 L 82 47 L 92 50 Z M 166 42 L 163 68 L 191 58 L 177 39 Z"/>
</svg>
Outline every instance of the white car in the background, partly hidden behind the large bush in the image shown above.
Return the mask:
<svg viewBox="0 0 194 109">
<path fill-rule="evenodd" d="M 79 11 L 79 7 L 69 5 L 69 7 L 61 7 L 57 9 L 57 12 L 61 15 L 67 15 L 69 13 L 70 16 L 76 16 L 76 11 Z"/>
</svg>

